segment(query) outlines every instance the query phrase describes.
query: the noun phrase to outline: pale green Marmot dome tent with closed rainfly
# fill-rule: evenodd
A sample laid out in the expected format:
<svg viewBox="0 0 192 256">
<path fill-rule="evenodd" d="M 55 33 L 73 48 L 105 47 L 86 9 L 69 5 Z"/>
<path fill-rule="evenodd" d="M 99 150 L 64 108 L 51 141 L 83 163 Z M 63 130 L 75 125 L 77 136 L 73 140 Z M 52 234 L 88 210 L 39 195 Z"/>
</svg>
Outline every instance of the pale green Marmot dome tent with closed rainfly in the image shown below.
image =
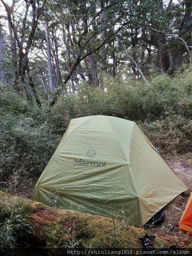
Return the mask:
<svg viewBox="0 0 192 256">
<path fill-rule="evenodd" d="M 32 199 L 140 226 L 186 189 L 135 122 L 95 115 L 70 121 Z"/>
</svg>

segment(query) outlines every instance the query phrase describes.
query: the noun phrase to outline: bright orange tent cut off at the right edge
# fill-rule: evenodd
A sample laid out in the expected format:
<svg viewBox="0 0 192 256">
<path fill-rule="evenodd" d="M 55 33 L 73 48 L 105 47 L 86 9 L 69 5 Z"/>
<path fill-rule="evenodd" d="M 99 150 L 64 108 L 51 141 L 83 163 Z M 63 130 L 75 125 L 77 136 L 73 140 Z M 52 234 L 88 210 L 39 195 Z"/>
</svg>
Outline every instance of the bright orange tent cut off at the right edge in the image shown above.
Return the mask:
<svg viewBox="0 0 192 256">
<path fill-rule="evenodd" d="M 192 235 L 192 193 L 189 197 L 183 215 L 181 216 L 180 222 L 178 223 L 178 228 L 181 231 L 187 231 Z"/>
</svg>

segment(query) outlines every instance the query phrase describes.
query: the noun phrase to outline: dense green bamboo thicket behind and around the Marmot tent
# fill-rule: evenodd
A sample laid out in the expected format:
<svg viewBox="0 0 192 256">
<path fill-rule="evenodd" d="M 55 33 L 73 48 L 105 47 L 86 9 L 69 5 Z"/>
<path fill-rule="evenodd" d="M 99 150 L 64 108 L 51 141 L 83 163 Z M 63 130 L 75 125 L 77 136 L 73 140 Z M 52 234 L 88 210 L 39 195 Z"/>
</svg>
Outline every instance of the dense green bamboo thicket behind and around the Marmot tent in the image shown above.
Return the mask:
<svg viewBox="0 0 192 256">
<path fill-rule="evenodd" d="M 53 108 L 30 106 L 13 92 L 1 93 L 0 174 L 39 176 L 70 120 L 87 115 L 135 121 L 163 154 L 190 151 L 191 77 L 191 66 L 182 67 L 175 78 L 158 75 L 149 83 L 102 75 L 105 90 L 82 83 L 78 93 L 61 94 Z"/>
</svg>

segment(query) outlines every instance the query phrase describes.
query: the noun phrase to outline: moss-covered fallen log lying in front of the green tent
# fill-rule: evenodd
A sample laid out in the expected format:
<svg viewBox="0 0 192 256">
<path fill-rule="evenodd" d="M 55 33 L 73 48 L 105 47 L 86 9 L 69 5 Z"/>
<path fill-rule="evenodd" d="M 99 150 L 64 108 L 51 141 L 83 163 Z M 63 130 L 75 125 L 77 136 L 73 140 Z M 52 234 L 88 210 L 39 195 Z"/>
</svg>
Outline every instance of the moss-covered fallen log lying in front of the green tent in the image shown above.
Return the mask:
<svg viewBox="0 0 192 256">
<path fill-rule="evenodd" d="M 13 235 L 17 234 L 15 242 L 31 248 L 141 248 L 138 237 L 146 233 L 125 219 L 48 207 L 3 191 L 0 211 L 1 232 L 12 228 Z M 4 241 L 0 241 L 2 248 L 13 246 L 9 239 L 5 235 Z M 153 245 L 160 244 L 162 241 L 156 238 Z"/>
</svg>

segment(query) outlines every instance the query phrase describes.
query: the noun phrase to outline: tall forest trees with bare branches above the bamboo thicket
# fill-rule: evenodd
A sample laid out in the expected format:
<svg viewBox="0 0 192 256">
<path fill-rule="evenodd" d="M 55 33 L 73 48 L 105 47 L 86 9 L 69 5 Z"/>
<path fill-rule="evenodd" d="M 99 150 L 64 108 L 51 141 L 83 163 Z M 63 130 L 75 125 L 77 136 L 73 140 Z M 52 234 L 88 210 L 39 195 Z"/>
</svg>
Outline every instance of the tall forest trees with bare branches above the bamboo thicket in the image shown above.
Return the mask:
<svg viewBox="0 0 192 256">
<path fill-rule="evenodd" d="M 191 63 L 190 0 L 1 0 L 2 82 L 31 104 L 82 82 L 104 90 L 102 75 L 173 75 Z M 1 85 L 2 87 L 3 85 Z"/>
</svg>

